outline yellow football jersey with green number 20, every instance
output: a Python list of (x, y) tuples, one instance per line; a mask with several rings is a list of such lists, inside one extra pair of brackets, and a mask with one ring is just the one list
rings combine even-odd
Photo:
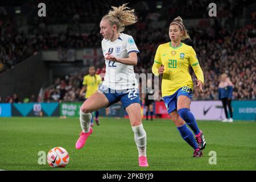
[(161, 44), (156, 50), (152, 73), (159, 76), (158, 68), (164, 66), (162, 80), (162, 97), (171, 96), (183, 86), (193, 90), (193, 81), (189, 74), (189, 65), (193, 68), (197, 80), (204, 83), (203, 71), (191, 46), (181, 43), (179, 47), (172, 47), (171, 42)]

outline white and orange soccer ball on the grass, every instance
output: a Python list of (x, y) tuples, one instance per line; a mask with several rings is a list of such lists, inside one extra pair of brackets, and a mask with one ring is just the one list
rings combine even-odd
[(65, 167), (69, 162), (67, 150), (62, 147), (54, 147), (47, 154), (47, 162), (51, 167)]

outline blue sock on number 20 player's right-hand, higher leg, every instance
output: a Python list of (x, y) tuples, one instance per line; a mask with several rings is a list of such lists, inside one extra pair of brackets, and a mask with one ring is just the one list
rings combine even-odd
[(196, 119), (191, 111), (187, 108), (178, 110), (180, 117), (188, 124), (188, 126), (193, 130), (195, 135), (200, 133), (199, 127), (197, 126)]

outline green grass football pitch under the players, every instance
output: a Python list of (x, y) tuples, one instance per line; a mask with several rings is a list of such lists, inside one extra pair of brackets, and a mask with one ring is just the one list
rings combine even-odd
[[(138, 151), (128, 119), (100, 118), (86, 145), (76, 150), (78, 118), (0, 118), (0, 169), (4, 170), (255, 170), (256, 123), (199, 121), (207, 146), (201, 158), (180, 137), (170, 120), (144, 121), (148, 168), (138, 167)], [(65, 168), (39, 165), (39, 151), (64, 147)], [(216, 151), (217, 164), (209, 164)]]

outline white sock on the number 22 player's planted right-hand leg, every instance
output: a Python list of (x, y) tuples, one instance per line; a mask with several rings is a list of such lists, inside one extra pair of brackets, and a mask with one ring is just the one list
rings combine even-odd
[(139, 156), (146, 155), (147, 135), (143, 125), (131, 126), (134, 131), (134, 140), (138, 148)]

